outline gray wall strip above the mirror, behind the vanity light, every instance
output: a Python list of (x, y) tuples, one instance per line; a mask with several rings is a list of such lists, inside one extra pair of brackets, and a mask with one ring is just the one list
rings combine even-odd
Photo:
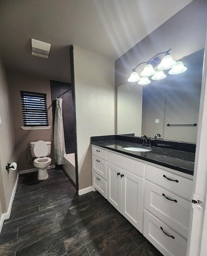
[(206, 28), (207, 1), (194, 0), (115, 61), (115, 85), (126, 83), (132, 68), (159, 52), (171, 48), (178, 60), (204, 48)]

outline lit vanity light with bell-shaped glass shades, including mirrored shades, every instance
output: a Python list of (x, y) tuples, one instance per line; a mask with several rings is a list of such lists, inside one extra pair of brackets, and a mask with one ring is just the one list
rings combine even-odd
[[(128, 79), (128, 82), (137, 82), (138, 84), (146, 85), (149, 84), (151, 81), (148, 79), (148, 77), (152, 76), (153, 80), (161, 80), (166, 78), (165, 73), (163, 70), (170, 69), (169, 74), (176, 75), (183, 73), (187, 70), (187, 67), (184, 67), (183, 63), (181, 61), (174, 61), (173, 57), (169, 54), (169, 49), (166, 52), (158, 53), (154, 57), (152, 57), (150, 60), (139, 63), (135, 68), (132, 69), (132, 73)], [(158, 55), (165, 54), (165, 56), (160, 60)], [(141, 65), (146, 64), (143, 71), (140, 73), (140, 76), (136, 72), (136, 68)], [(158, 68), (155, 70), (154, 68)], [(146, 78), (146, 79), (145, 79)]]

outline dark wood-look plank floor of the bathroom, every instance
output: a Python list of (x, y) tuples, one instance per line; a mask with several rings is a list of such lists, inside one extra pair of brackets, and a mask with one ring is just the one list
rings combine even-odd
[(51, 169), (44, 181), (20, 175), (0, 255), (162, 254), (98, 192), (78, 196), (64, 171)]

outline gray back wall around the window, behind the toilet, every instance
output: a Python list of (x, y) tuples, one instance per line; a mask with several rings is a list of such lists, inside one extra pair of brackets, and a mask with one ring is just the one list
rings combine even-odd
[[(27, 143), (38, 140), (51, 141), (51, 154), (52, 159), (51, 165), (54, 164), (53, 161), (53, 126), (52, 126), (52, 104), (51, 104), (51, 92), (50, 83), (48, 79), (41, 79), (36, 77), (30, 77), (27, 75), (9, 73), (7, 72), (7, 80), (9, 87), (11, 105), (11, 114), (13, 119), (13, 129), (14, 129), (14, 141), (15, 141), (15, 153), (17, 157), (18, 170), (27, 170), (28, 164), (26, 161), (27, 157)], [(38, 93), (47, 94), (47, 107), (48, 107), (48, 121), (51, 128), (49, 130), (22, 130), (20, 127), (23, 126), (22, 119), (22, 106), (20, 91), (31, 91)], [(31, 155), (28, 156), (29, 160)], [(34, 168), (31, 165), (30, 168)]]

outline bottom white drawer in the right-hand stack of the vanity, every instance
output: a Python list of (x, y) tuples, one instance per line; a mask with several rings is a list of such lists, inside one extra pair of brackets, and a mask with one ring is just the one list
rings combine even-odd
[(187, 240), (146, 210), (143, 235), (165, 256), (186, 255)]

